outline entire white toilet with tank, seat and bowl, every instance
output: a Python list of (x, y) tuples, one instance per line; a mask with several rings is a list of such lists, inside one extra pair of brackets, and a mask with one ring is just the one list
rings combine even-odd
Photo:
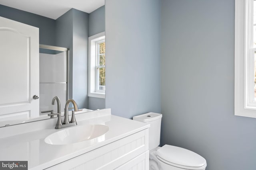
[(134, 116), (133, 120), (150, 124), (149, 128), (149, 169), (150, 170), (205, 170), (206, 160), (192, 152), (172, 145), (160, 144), (162, 114), (145, 113)]

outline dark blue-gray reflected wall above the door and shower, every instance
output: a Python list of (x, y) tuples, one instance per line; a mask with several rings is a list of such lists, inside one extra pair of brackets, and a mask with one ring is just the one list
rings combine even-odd
[(56, 45), (55, 20), (3, 5), (0, 5), (0, 16), (38, 27), (39, 43)]

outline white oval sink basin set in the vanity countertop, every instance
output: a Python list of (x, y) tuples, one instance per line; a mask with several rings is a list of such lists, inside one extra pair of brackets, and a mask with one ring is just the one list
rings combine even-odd
[(108, 126), (98, 124), (75, 126), (52, 133), (44, 141), (51, 145), (67, 145), (100, 137), (108, 130)]

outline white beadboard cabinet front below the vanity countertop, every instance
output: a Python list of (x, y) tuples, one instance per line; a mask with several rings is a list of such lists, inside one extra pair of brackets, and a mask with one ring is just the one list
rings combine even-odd
[(148, 170), (148, 129), (86, 152), (47, 170)]

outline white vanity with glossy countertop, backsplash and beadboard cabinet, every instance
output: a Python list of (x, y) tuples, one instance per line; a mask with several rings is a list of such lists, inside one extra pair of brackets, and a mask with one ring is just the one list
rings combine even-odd
[[(76, 121), (77, 126), (58, 130), (54, 129), (56, 118), (0, 128), (0, 160), (28, 161), (29, 170), (148, 169), (149, 125), (111, 115), (111, 109), (76, 114)], [(72, 129), (70, 134), (63, 133), (66, 139), (76, 137), (66, 141), (68, 144), (45, 141), (46, 137), (69, 128), (94, 129), (89, 125), (109, 129), (105, 129), (104, 135), (86, 141), (76, 141), (81, 133), (74, 136)]]

